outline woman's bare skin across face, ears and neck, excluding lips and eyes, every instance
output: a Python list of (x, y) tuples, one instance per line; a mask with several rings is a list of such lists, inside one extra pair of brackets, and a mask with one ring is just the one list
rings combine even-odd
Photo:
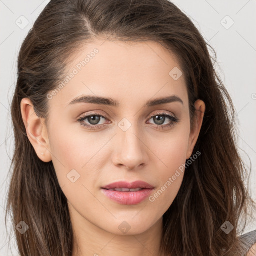
[[(21, 112), (27, 136), (38, 157), (53, 162), (56, 175), (67, 197), (74, 230), (72, 256), (85, 255), (161, 255), (159, 244), (162, 216), (169, 208), (183, 179), (179, 177), (151, 202), (122, 205), (110, 200), (100, 187), (121, 180), (143, 180), (158, 191), (192, 156), (202, 125), (205, 104), (195, 102), (197, 118), (190, 130), (188, 94), (183, 75), (174, 80), (169, 72), (179, 63), (160, 44), (121, 42), (97, 39), (84, 45), (67, 67), (67, 74), (93, 51), (98, 54), (68, 84), (49, 100), (49, 121), (34, 113), (28, 98), (21, 101)], [(111, 97), (119, 107), (92, 103), (68, 105), (80, 95)], [(145, 102), (158, 97), (177, 95), (183, 101), (152, 107)], [(150, 115), (167, 113), (180, 119), (165, 117), (158, 124)], [(77, 121), (84, 114), (102, 114), (101, 128), (89, 130)], [(118, 123), (126, 118), (127, 131)], [(93, 125), (88, 118), (83, 123)], [(41, 153), (44, 152), (44, 155)], [(67, 174), (75, 169), (80, 177), (72, 183)], [(123, 222), (130, 229), (122, 232)], [(76, 248), (79, 247), (79, 249)]]

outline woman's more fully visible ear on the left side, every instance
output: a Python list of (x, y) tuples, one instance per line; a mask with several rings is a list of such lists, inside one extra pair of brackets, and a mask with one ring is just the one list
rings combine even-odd
[(29, 98), (22, 98), (20, 109), (27, 137), (37, 156), (44, 162), (51, 161), (47, 127), (44, 123), (44, 119), (36, 115), (33, 104)]

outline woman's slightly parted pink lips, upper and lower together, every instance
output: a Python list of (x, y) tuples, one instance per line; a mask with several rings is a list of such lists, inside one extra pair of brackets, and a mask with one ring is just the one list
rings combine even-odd
[[(143, 188), (142, 190), (136, 192), (128, 191), (114, 191), (107, 190), (111, 188)], [(132, 183), (126, 181), (119, 181), (108, 184), (101, 188), (101, 191), (111, 200), (126, 205), (138, 204), (147, 198), (153, 190), (153, 186), (144, 181), (135, 181)]]

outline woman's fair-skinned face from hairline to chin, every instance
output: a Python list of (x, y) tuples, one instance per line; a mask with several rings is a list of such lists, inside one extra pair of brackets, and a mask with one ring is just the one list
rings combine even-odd
[[(153, 41), (98, 39), (73, 57), (67, 80), (47, 96), (47, 126), (42, 122), (37, 139), (29, 139), (42, 161), (52, 160), (77, 223), (138, 234), (169, 208), (183, 179), (180, 166), (192, 156), (202, 121), (198, 112), (196, 128), (190, 131), (181, 72), (173, 55)], [(111, 100), (78, 100), (82, 96)], [(27, 118), (25, 101), (21, 105)], [(198, 100), (196, 108), (204, 111), (203, 102)], [(143, 181), (152, 188), (142, 183), (134, 184), (139, 191), (102, 188), (119, 181)]]

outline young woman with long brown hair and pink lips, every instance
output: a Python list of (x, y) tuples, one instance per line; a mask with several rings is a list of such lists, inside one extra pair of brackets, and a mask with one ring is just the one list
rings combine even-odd
[(232, 100), (171, 2), (51, 0), (11, 114), (20, 255), (253, 253)]

